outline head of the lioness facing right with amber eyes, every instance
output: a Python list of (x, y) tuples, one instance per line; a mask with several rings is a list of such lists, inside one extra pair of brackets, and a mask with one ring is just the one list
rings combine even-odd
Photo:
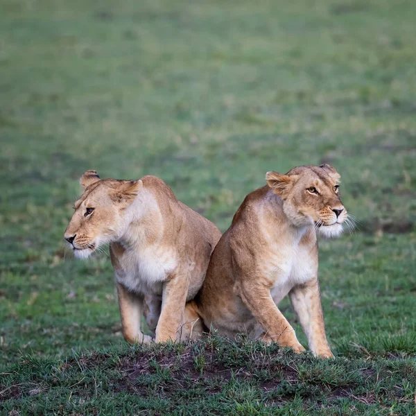
[(315, 225), (324, 236), (343, 231), (347, 210), (340, 200), (339, 173), (329, 164), (299, 166), (286, 175), (266, 173), (268, 186), (284, 200), (293, 225)]

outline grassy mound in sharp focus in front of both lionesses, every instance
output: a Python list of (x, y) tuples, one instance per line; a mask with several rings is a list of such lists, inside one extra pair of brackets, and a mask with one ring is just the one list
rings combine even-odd
[(2, 392), (6, 412), (35, 414), (410, 415), (415, 379), (409, 358), (317, 360), (211, 336), (58, 361), (24, 356)]

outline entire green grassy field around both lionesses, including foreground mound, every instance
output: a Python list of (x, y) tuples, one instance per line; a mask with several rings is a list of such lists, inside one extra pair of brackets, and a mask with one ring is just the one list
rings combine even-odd
[[(1, 415), (415, 414), (415, 1), (0, 9)], [(162, 177), (224, 231), (266, 171), (321, 162), (361, 221), (320, 242), (333, 361), (130, 347), (109, 258), (65, 255), (87, 169)]]

